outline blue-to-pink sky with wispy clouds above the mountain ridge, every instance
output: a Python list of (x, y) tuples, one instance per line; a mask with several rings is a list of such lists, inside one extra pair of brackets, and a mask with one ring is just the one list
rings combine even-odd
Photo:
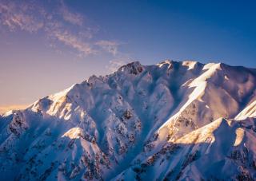
[(130, 61), (256, 68), (255, 1), (0, 0), (0, 112)]

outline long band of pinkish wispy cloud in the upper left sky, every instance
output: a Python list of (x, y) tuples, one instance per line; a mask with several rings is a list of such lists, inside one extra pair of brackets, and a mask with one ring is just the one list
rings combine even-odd
[(93, 38), (98, 32), (98, 26), (85, 21), (84, 14), (70, 10), (61, 0), (46, 4), (47, 8), (39, 1), (3, 0), (0, 2), (0, 24), (13, 32), (42, 31), (50, 39), (51, 47), (58, 48), (56, 44), (62, 43), (77, 51), (79, 57), (100, 52), (111, 53), (113, 56), (118, 53), (117, 42)]

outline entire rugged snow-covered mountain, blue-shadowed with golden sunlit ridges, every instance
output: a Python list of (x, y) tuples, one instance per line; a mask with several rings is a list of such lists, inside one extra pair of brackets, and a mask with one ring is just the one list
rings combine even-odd
[(2, 180), (256, 179), (256, 69), (133, 62), (0, 116)]

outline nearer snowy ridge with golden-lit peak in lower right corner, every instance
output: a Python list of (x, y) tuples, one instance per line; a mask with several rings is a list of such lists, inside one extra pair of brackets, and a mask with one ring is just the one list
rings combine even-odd
[(218, 119), (166, 143), (115, 179), (253, 180), (256, 176), (255, 119)]

